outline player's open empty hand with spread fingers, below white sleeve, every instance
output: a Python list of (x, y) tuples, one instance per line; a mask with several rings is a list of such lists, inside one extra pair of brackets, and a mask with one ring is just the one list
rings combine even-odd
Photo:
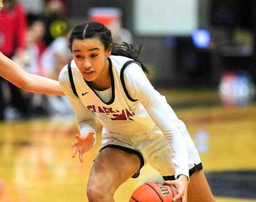
[(83, 162), (83, 154), (90, 150), (93, 146), (93, 141), (94, 141), (94, 132), (89, 132), (87, 135), (81, 136), (81, 135), (76, 135), (76, 140), (77, 142), (72, 142), (71, 146), (74, 148), (72, 157), (74, 158), (76, 156), (76, 153), (79, 152), (79, 159), (81, 162)]

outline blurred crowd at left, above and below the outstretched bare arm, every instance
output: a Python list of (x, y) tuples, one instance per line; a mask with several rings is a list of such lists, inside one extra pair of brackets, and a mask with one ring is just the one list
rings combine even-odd
[[(71, 60), (65, 0), (4, 0), (3, 4), (0, 51), (27, 72), (58, 80), (59, 71)], [(0, 121), (71, 113), (64, 96), (24, 92), (0, 77)]]

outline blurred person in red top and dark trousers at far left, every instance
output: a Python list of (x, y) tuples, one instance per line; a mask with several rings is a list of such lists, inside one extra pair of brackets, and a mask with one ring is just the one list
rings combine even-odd
[[(0, 17), (0, 51), (11, 58), (14, 54), (21, 54), (25, 49), (25, 33), (27, 29), (26, 13), (21, 3), (15, 0), (5, 0), (4, 8)], [(0, 78), (0, 120), (4, 119), (4, 109), (6, 103), (2, 84), (5, 81)], [(21, 90), (9, 83), (10, 104), (15, 107), (21, 116), (29, 117), (29, 103), (23, 97)]]

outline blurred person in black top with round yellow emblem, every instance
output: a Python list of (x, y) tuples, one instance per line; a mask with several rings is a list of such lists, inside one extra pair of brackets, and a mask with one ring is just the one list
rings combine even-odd
[(68, 26), (65, 19), (65, 6), (61, 0), (49, 0), (47, 2), (44, 11), (44, 23), (46, 25), (44, 36), (46, 46), (66, 33)]

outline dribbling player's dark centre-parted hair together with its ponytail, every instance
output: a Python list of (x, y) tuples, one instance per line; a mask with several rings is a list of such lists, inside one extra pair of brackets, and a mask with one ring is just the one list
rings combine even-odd
[[(99, 37), (99, 40), (104, 44), (105, 49), (112, 44), (111, 31), (107, 29), (103, 24), (97, 22), (86, 22), (81, 25), (76, 26), (69, 37), (69, 48), (72, 51), (72, 43), (73, 40), (84, 40), (87, 38)], [(122, 42), (122, 44), (113, 46), (111, 55), (116, 56), (124, 56), (127, 58), (131, 58), (133, 60), (138, 61), (140, 63), (141, 68), (145, 73), (149, 73), (149, 70), (143, 65), (141, 60), (139, 59), (141, 56), (141, 46), (138, 46), (134, 49), (132, 44), (127, 44), (126, 42)]]

